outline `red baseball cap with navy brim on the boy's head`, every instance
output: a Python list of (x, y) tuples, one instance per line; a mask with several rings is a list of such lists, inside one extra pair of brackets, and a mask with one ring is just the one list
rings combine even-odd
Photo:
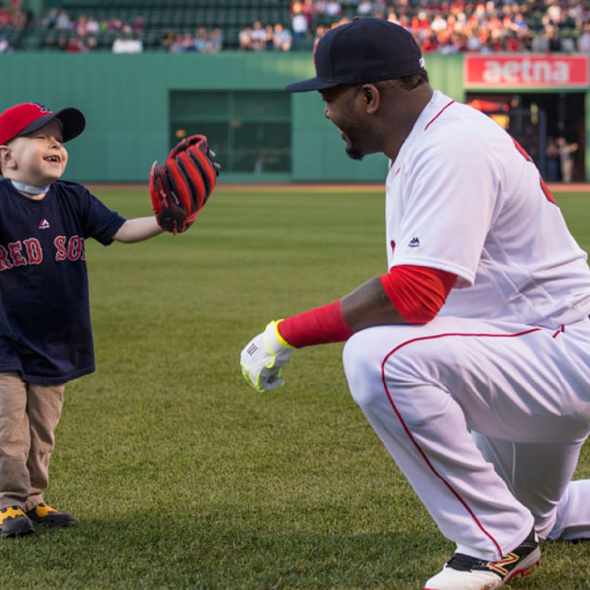
[(64, 142), (80, 135), (86, 125), (84, 115), (73, 107), (54, 112), (39, 103), (16, 104), (0, 114), (0, 145), (20, 135), (37, 131), (53, 119), (61, 123)]

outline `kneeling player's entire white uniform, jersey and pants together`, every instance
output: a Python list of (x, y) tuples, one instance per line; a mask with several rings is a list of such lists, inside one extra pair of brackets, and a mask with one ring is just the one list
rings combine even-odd
[(484, 560), (590, 538), (590, 271), (539, 172), (435, 92), (387, 179), (389, 267), (458, 281), (427, 324), (346, 342), (350, 392), (457, 550)]

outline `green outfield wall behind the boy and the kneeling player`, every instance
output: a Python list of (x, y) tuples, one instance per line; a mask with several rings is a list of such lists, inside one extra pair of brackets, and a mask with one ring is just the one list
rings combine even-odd
[[(464, 99), (461, 55), (428, 55), (427, 70), (433, 87)], [(307, 53), (15, 52), (0, 56), (0, 74), (0, 109), (35, 101), (84, 112), (86, 130), (68, 144), (70, 180), (145, 181), (182, 132), (207, 133), (227, 182), (385, 178), (385, 156), (346, 157), (318, 93), (283, 93), (313, 76)]]

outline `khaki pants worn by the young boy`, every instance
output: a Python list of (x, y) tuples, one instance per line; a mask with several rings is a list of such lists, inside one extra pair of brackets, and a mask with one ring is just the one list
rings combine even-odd
[(37, 385), (0, 372), (0, 509), (43, 500), (65, 385)]

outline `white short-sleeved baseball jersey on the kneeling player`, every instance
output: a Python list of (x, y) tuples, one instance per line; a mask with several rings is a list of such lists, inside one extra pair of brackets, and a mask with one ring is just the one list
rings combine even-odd
[(489, 117), (435, 92), (391, 164), (389, 268), (457, 274), (441, 316), (558, 327), (590, 313), (586, 253), (520, 150)]

